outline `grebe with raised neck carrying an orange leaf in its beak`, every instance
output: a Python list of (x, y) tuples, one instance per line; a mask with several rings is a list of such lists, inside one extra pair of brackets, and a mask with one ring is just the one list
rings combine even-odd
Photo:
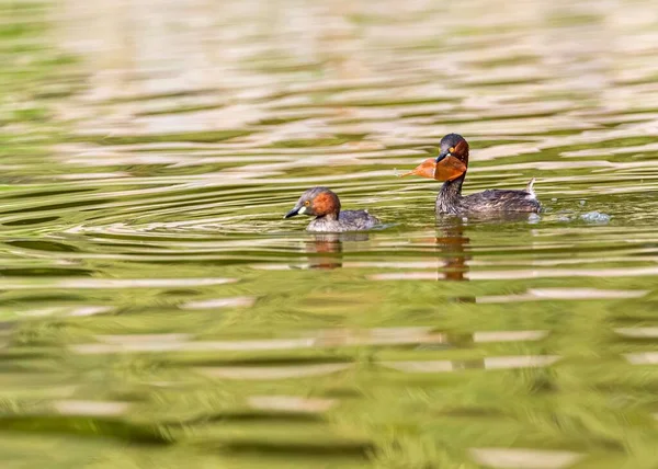
[(439, 157), (423, 161), (413, 171), (423, 178), (445, 181), (436, 196), (436, 215), (468, 215), (525, 211), (538, 213), (542, 205), (537, 201), (533, 184), (525, 191), (490, 188), (472, 195), (462, 195), (462, 184), (468, 170), (468, 142), (457, 134), (447, 134), (441, 139)]

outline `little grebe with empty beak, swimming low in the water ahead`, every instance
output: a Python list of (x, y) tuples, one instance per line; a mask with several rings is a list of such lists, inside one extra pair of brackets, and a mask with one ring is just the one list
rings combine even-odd
[(299, 214), (316, 217), (308, 224), (307, 231), (361, 231), (381, 224), (367, 210), (340, 211), (338, 195), (327, 187), (307, 190), (297, 201), (295, 208), (285, 214), (283, 218), (291, 218)]

